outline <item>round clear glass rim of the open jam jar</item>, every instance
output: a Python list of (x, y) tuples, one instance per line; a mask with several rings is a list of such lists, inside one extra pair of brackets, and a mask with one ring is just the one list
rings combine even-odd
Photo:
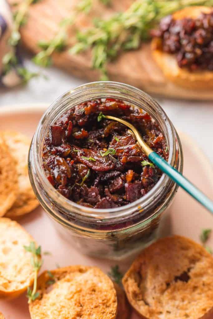
[[(53, 199), (54, 202), (57, 202), (58, 205), (66, 209), (67, 211), (72, 211), (75, 214), (81, 216), (81, 217), (87, 217), (87, 218), (94, 218), (94, 219), (114, 219), (116, 217), (126, 217), (130, 213), (135, 211), (135, 208), (139, 209), (139, 211), (143, 211), (144, 207), (147, 207), (148, 204), (151, 203), (153, 197), (155, 197), (157, 194), (159, 194), (160, 190), (166, 183), (170, 180), (170, 178), (166, 174), (162, 174), (156, 185), (148, 191), (148, 193), (141, 198), (137, 199), (136, 201), (126, 204), (124, 206), (116, 207), (116, 208), (110, 208), (110, 209), (96, 209), (96, 208), (90, 208), (86, 206), (82, 206), (80, 204), (77, 204), (70, 199), (67, 199), (64, 197), (62, 194), (57, 192), (57, 190), (51, 185), (51, 183), (48, 181), (44, 169), (43, 169), (43, 164), (42, 164), (42, 156), (41, 156), (41, 151), (43, 147), (43, 141), (44, 137), (46, 134), (43, 134), (44, 132), (42, 131), (42, 128), (46, 125), (50, 125), (50, 120), (56, 121), (58, 117), (60, 117), (61, 114), (63, 114), (66, 110), (58, 110), (57, 108), (60, 108), (60, 101), (66, 100), (67, 98), (69, 99), (68, 103), (71, 102), (74, 98), (76, 98), (76, 95), (79, 95), (80, 93), (83, 93), (84, 90), (88, 91), (93, 91), (97, 89), (97, 87), (102, 88), (105, 91), (109, 91), (105, 94), (105, 97), (113, 97), (114, 94), (110, 94), (110, 90), (115, 90), (119, 95), (119, 90), (124, 90), (126, 94), (129, 93), (134, 93), (138, 95), (138, 100), (141, 99), (140, 103), (142, 104), (142, 100), (146, 100), (147, 103), (152, 105), (155, 109), (156, 114), (160, 115), (160, 118), (162, 120), (162, 123), (165, 125), (165, 129), (167, 131), (167, 138), (169, 142), (169, 158), (168, 162), (172, 165), (172, 159), (175, 157), (174, 152), (175, 152), (175, 139), (174, 139), (174, 134), (175, 134), (175, 129), (170, 122), (168, 116), (164, 112), (164, 110), (161, 108), (161, 106), (152, 98), (150, 97), (147, 93), (143, 92), (142, 90), (135, 88), (131, 85), (127, 85), (124, 83), (119, 83), (119, 82), (112, 82), (112, 81), (96, 81), (96, 82), (90, 82), (87, 84), (83, 84), (80, 86), (76, 86), (75, 88), (65, 92), (62, 94), (57, 100), (55, 100), (49, 108), (45, 111), (43, 114), (42, 118), (39, 121), (39, 124), (36, 128), (34, 138), (32, 141), (31, 148), (33, 150), (33, 156), (34, 156), (34, 167), (33, 169), (35, 170), (36, 174), (38, 175), (38, 178), (40, 182), (42, 183), (42, 188), (45, 190), (45, 192), (48, 194), (49, 198)], [(86, 93), (86, 92), (85, 92)], [(87, 92), (88, 93), (88, 92)], [(88, 95), (88, 94), (85, 94)], [(72, 96), (70, 96), (72, 95)], [(82, 97), (83, 94), (81, 94)], [(121, 93), (120, 93), (121, 95)], [(131, 97), (131, 95), (130, 95)], [(95, 97), (97, 98), (97, 97)], [(90, 100), (92, 98), (88, 98)], [(123, 98), (122, 98), (123, 99)], [(125, 100), (125, 99), (124, 99)], [(85, 101), (85, 100), (84, 100)], [(78, 103), (73, 102), (73, 106)], [(137, 103), (132, 103), (136, 104)], [(140, 107), (140, 105), (138, 105)], [(141, 105), (141, 108), (144, 108), (144, 105)], [(68, 109), (68, 107), (67, 107)], [(150, 114), (152, 117), (154, 117), (154, 120), (159, 124), (159, 121), (156, 119), (155, 114)], [(154, 116), (153, 116), (154, 115)], [(54, 117), (55, 116), (55, 117)], [(47, 129), (46, 129), (47, 131)], [(41, 134), (42, 133), (42, 134)]]

